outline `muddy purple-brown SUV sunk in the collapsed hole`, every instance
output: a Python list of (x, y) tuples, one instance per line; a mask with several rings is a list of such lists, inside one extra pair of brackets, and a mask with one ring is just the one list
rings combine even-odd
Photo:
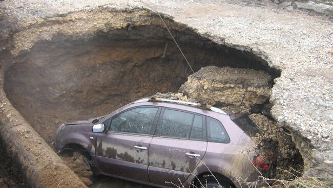
[(90, 154), (97, 174), (158, 187), (241, 187), (271, 164), (222, 110), (160, 98), (61, 125), (56, 149), (73, 145)]

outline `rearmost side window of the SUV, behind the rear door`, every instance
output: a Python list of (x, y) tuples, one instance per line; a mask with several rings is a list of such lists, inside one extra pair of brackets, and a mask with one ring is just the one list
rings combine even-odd
[(230, 138), (222, 123), (212, 117), (206, 117), (207, 140), (214, 143), (229, 143)]

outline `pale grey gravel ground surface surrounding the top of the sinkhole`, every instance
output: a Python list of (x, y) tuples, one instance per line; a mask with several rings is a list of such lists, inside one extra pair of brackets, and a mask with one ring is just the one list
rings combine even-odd
[[(251, 51), (270, 67), (281, 70), (270, 98), (273, 117), (292, 132), (306, 168), (331, 165), (324, 161), (333, 161), (333, 55), (328, 53), (333, 51), (332, 22), (324, 16), (287, 11), (262, 2), (144, 2), (6, 0), (0, 2), (2, 20), (7, 21), (1, 25), (0, 36), (13, 37), (10, 40), (14, 48), (1, 39), (0, 49), (9, 48), (17, 55), (31, 48), (33, 43), (20, 45), (20, 40), (29, 36), (11, 35), (11, 31), (36, 27), (44, 20), (70, 12), (153, 7), (214, 42)], [(38, 40), (43, 39), (50, 38)]]

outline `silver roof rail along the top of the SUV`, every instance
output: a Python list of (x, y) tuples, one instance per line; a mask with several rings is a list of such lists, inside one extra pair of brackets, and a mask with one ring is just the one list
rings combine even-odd
[(168, 103), (177, 103), (177, 104), (185, 104), (185, 105), (191, 105), (191, 106), (196, 106), (196, 107), (201, 107), (205, 108), (207, 110), (212, 110), (217, 113), (226, 113), (214, 106), (208, 105), (208, 104), (201, 104), (201, 103), (192, 103), (192, 102), (186, 102), (186, 101), (178, 101), (178, 100), (172, 100), (172, 99), (162, 99), (162, 98), (144, 98), (144, 99), (139, 99), (137, 101), (134, 101), (133, 103), (143, 103), (143, 102), (168, 102)]

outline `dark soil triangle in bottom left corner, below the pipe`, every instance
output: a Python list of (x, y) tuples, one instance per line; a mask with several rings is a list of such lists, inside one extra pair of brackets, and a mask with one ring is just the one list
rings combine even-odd
[(22, 171), (7, 155), (2, 142), (0, 139), (0, 188), (29, 188)]

